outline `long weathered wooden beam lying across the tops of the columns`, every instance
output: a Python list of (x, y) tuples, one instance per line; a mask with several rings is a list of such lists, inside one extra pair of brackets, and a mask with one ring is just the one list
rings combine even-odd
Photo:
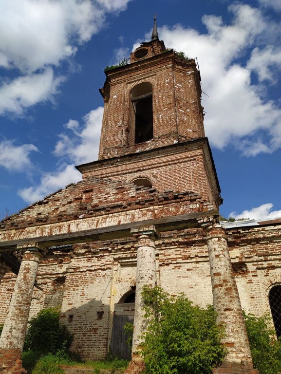
[(35, 238), (4, 241), (0, 242), (0, 252), (15, 251), (17, 245), (26, 243), (40, 243), (46, 247), (52, 247), (56, 245), (93, 242), (95, 240), (126, 238), (131, 236), (131, 228), (148, 225), (155, 225), (160, 232), (196, 227), (198, 226), (197, 219), (217, 216), (218, 214), (219, 211), (217, 209), (212, 209), (205, 212), (187, 213), (164, 218), (130, 222), (128, 224), (99, 227), (63, 234), (38, 236)]

